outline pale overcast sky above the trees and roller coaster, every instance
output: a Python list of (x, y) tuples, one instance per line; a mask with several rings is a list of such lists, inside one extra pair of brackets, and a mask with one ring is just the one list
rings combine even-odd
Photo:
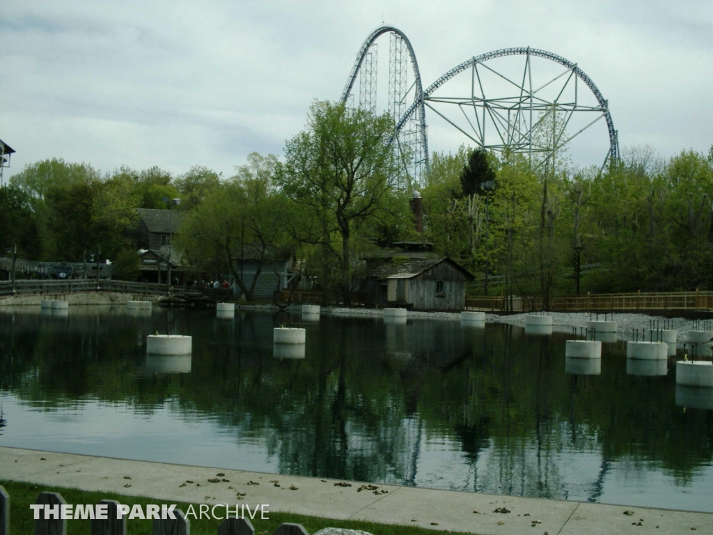
[[(282, 155), (382, 21), (409, 37), (424, 86), (471, 56), (532, 46), (595, 81), (622, 148), (713, 144), (710, 0), (1, 0), (0, 139), (17, 151), (6, 177), (53, 157), (227, 176), (253, 151)], [(467, 141), (427, 121), (431, 149)]]

